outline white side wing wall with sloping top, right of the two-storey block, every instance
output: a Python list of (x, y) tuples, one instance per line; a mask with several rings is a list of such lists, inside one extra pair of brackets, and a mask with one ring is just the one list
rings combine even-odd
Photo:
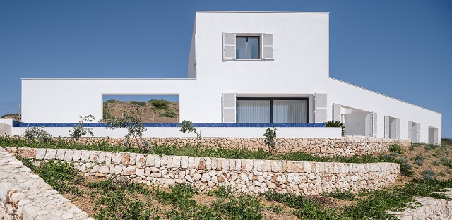
[(385, 116), (389, 116), (400, 119), (400, 139), (408, 139), (408, 121), (412, 121), (420, 123), (420, 142), (429, 142), (429, 127), (438, 129), (438, 140), (441, 142), (441, 114), (435, 111), (330, 78), (328, 120), (332, 118), (333, 103), (376, 112), (378, 138), (385, 138)]

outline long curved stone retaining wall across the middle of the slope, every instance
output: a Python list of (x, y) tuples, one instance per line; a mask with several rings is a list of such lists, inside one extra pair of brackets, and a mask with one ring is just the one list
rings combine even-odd
[(306, 161), (224, 159), (7, 147), (26, 158), (72, 162), (89, 176), (125, 176), (141, 183), (175, 185), (191, 183), (201, 191), (234, 185), (242, 193), (276, 190), (297, 195), (318, 195), (345, 189), (355, 192), (391, 185), (399, 164), (347, 164)]

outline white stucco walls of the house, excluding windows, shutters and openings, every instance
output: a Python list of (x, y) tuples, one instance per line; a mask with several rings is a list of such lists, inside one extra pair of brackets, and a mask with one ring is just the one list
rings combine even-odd
[[(274, 60), (224, 61), (223, 33), (273, 34)], [(329, 78), (328, 13), (196, 12), (188, 68), (186, 79), (23, 79), (22, 119), (76, 122), (86, 114), (100, 119), (105, 94), (178, 94), (181, 121), (220, 123), (222, 93), (236, 93), (309, 97), (314, 122), (313, 94), (324, 93), (328, 120), (338, 103), (376, 112), (378, 138), (384, 138), (384, 116), (391, 116), (400, 118), (401, 139), (408, 138), (408, 121), (413, 121), (421, 125), (420, 142), (428, 142), (429, 126), (438, 128), (441, 140), (441, 114)]]

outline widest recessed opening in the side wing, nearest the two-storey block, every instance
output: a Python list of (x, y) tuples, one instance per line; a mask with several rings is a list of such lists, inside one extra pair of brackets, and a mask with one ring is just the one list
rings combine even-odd
[(371, 113), (360, 109), (341, 106), (341, 121), (347, 136), (371, 137)]

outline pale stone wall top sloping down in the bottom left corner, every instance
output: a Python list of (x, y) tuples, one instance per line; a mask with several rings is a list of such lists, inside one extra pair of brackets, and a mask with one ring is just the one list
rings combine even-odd
[(0, 147), (0, 219), (91, 219)]

